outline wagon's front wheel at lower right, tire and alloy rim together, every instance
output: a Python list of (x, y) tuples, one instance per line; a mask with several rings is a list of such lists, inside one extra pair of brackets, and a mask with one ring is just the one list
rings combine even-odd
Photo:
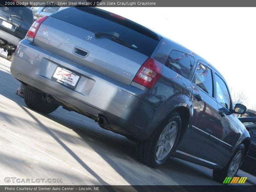
[(235, 154), (230, 158), (228, 164), (224, 168), (222, 168), (221, 170), (213, 170), (213, 179), (220, 183), (223, 183), (226, 177), (236, 176), (241, 164), (243, 163), (244, 150), (244, 144), (240, 144)]

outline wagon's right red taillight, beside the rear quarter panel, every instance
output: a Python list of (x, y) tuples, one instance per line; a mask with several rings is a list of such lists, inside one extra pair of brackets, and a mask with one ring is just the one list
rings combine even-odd
[(133, 81), (152, 89), (158, 79), (162, 76), (163, 66), (152, 58), (148, 58), (140, 67)]

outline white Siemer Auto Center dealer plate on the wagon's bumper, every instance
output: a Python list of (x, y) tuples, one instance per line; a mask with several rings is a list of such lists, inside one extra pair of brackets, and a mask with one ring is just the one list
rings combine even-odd
[(57, 67), (52, 75), (53, 80), (72, 89), (76, 88), (80, 77), (80, 75), (60, 67)]

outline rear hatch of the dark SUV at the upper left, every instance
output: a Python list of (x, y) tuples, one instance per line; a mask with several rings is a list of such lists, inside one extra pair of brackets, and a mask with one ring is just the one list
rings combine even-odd
[(33, 23), (33, 13), (28, 7), (5, 7), (0, 4), (1, 30), (23, 39)]

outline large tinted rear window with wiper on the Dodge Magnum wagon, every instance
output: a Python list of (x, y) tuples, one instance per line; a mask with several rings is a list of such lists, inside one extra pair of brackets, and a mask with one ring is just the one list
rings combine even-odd
[[(159, 42), (159, 36), (131, 20), (97, 8), (72, 7), (52, 15), (86, 30), (114, 35), (137, 52), (150, 56)], [(104, 36), (111, 39), (111, 36)]]

